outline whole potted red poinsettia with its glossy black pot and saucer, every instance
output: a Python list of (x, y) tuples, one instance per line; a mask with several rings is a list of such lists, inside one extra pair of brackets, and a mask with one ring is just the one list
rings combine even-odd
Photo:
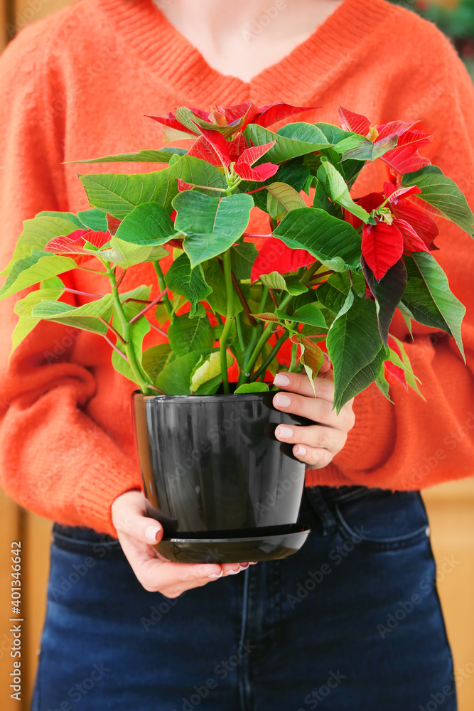
[[(165, 530), (158, 550), (171, 560), (264, 560), (303, 544), (304, 465), (274, 437), (277, 424), (301, 422), (271, 405), (282, 347), (291, 344), (286, 368), (311, 383), (327, 350), (337, 410), (373, 382), (389, 397), (387, 372), (418, 390), (404, 344), (389, 333), (396, 309), (408, 326), (446, 331), (463, 353), (465, 309), (431, 255), (431, 215), (469, 234), (474, 215), (419, 155), (429, 136), (416, 122), (371, 127), (342, 108), (342, 127), (268, 128), (303, 110), (246, 102), (153, 117), (190, 147), (83, 161), (168, 165), (80, 175), (91, 209), (27, 220), (4, 270), (0, 298), (36, 287), (16, 303), (14, 348), (42, 319), (92, 331), (138, 387), (144, 493)], [(352, 197), (376, 160), (387, 181)], [(247, 231), (255, 205), (268, 214), (265, 235)], [(150, 284), (121, 287), (144, 263), (154, 298)], [(65, 303), (71, 289), (60, 274), (74, 269), (106, 276), (109, 289), (72, 289), (82, 303)], [(166, 342), (144, 348), (152, 328)]]

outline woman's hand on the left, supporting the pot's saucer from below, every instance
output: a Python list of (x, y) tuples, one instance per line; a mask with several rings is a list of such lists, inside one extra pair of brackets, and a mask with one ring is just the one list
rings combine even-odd
[(141, 491), (126, 491), (112, 503), (112, 522), (132, 570), (149, 592), (178, 597), (185, 590), (203, 587), (223, 575), (244, 570), (249, 563), (173, 563), (153, 547), (163, 538), (163, 528), (149, 518)]

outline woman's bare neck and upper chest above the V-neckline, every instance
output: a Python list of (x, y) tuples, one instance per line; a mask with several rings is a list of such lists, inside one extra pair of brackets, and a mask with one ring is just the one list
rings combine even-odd
[(305, 41), (341, 0), (154, 0), (208, 64), (249, 81)]

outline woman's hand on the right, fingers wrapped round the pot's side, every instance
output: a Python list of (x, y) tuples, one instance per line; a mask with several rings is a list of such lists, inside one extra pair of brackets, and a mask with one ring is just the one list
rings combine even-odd
[(354, 427), (354, 398), (336, 415), (333, 410), (333, 371), (327, 358), (314, 381), (316, 398), (306, 373), (277, 373), (274, 384), (286, 391), (274, 396), (273, 404), (277, 410), (302, 415), (318, 423), (309, 427), (280, 424), (276, 427), (276, 438), (294, 444), (293, 454), (310, 469), (327, 466), (343, 449), (348, 432)]

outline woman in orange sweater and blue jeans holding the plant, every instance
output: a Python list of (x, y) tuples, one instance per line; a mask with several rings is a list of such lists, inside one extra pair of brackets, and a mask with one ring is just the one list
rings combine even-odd
[[(474, 202), (469, 77), (436, 28), (384, 0), (80, 0), (23, 31), (0, 75), (4, 263), (22, 220), (87, 209), (66, 161), (162, 145), (144, 114), (176, 105), (285, 100), (321, 106), (305, 120), (336, 123), (340, 103), (373, 125), (421, 119), (436, 135), (425, 154)], [(387, 178), (370, 170), (355, 195)], [(468, 305), (469, 355), (473, 250), (448, 223), (438, 246)], [(336, 417), (328, 370), (316, 400), (303, 377), (280, 375), (288, 395), (276, 407), (318, 423), (279, 435), (308, 465), (301, 520), (312, 532), (288, 560), (239, 567), (156, 556), (131, 384), (87, 333), (36, 331), (8, 366), (9, 339), (2, 346), (0, 447), (6, 491), (58, 522), (34, 709), (415, 711), (441, 694), (456, 708), (416, 491), (469, 476), (474, 461), (472, 437), (446, 441), (474, 394), (448, 338), (416, 326), (406, 345), (426, 403), (393, 383), (394, 406), (371, 387)], [(407, 338), (401, 319), (394, 333)]]

